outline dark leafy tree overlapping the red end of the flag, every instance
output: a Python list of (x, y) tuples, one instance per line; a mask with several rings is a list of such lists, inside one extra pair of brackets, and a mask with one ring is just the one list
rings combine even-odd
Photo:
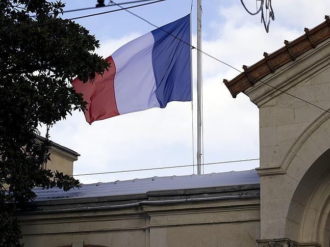
[[(80, 187), (78, 180), (44, 169), (48, 130), (85, 109), (70, 86), (73, 77), (93, 81), (109, 64), (93, 53), (99, 44), (88, 30), (59, 21), (62, 8), (46, 0), (0, 1), (0, 246), (19, 245), (13, 214), (34, 200), (34, 187)], [(47, 126), (43, 143), (36, 141), (40, 124)]]

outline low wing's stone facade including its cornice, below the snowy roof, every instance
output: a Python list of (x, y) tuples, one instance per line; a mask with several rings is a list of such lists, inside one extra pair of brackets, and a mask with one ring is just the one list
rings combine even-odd
[(259, 184), (46, 200), (20, 213), (26, 246), (255, 246)]

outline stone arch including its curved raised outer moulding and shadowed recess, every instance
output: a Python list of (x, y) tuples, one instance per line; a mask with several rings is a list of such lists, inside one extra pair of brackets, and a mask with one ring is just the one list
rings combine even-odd
[(296, 181), (290, 196), (285, 236), (307, 244), (304, 246), (330, 247), (329, 119), (330, 115), (324, 113), (310, 124), (281, 164), (281, 170)]

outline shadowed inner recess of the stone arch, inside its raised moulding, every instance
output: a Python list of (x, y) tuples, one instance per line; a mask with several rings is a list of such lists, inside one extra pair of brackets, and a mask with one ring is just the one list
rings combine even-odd
[(286, 221), (286, 236), (307, 246), (329, 247), (330, 149), (313, 162), (299, 181)]

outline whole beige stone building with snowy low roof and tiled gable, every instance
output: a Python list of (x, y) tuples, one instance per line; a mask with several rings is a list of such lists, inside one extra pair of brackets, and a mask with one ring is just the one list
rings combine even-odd
[(25, 246), (330, 246), (330, 18), (225, 85), (260, 109), (260, 167), (40, 190)]

